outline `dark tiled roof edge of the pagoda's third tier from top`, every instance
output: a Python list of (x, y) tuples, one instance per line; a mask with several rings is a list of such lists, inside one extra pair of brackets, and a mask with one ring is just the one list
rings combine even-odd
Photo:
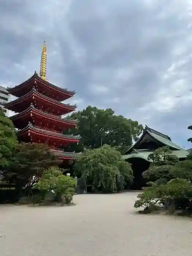
[(30, 110), (35, 110), (35, 111), (37, 111), (37, 112), (40, 113), (40, 114), (43, 114), (43, 115), (45, 115), (45, 116), (49, 116), (49, 117), (56, 118), (56, 119), (58, 119), (58, 120), (60, 120), (60, 121), (66, 121), (66, 122), (69, 122), (69, 123), (71, 122), (71, 123), (75, 123), (75, 124), (78, 123), (78, 119), (62, 118), (62, 117), (60, 117), (60, 116), (56, 116), (56, 115), (54, 115), (54, 114), (47, 113), (47, 112), (45, 112), (45, 111), (42, 111), (42, 110), (39, 110), (39, 109), (35, 108), (32, 103), (31, 103), (30, 107), (27, 108), (26, 110), (24, 110), (23, 112), (20, 112), (20, 113), (18, 113), (18, 114), (15, 114), (14, 116), (10, 116), (9, 118), (10, 118), (11, 120), (13, 120), (15, 117), (18, 117), (18, 116), (20, 116), (20, 115), (22, 115), (22, 114), (25, 114), (25, 113), (27, 113), (27, 112), (30, 111)]

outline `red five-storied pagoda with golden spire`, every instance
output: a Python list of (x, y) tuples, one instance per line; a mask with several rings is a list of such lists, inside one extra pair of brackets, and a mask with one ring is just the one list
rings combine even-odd
[(51, 150), (59, 154), (60, 159), (75, 159), (78, 153), (61, 150), (69, 143), (78, 143), (80, 136), (64, 135), (63, 131), (77, 126), (78, 120), (61, 118), (62, 115), (75, 110), (76, 105), (62, 103), (71, 98), (75, 91), (68, 91), (55, 86), (46, 79), (46, 45), (44, 42), (39, 75), (35, 71), (28, 80), (7, 91), (18, 97), (14, 101), (4, 103), (4, 108), (14, 111), (11, 116), (18, 129), (20, 142), (48, 143)]

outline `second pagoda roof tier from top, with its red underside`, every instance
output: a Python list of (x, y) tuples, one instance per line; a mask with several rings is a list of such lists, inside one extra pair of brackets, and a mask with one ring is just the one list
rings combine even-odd
[(35, 88), (14, 101), (10, 101), (8, 103), (4, 102), (3, 105), (6, 109), (20, 113), (29, 108), (31, 103), (33, 103), (35, 108), (45, 109), (46, 112), (55, 114), (57, 116), (70, 113), (76, 109), (76, 104), (70, 105), (69, 103), (61, 103), (39, 93)]

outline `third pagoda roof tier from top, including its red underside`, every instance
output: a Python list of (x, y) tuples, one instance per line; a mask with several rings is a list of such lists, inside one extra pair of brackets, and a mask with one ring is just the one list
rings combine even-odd
[(68, 129), (69, 127), (74, 127), (78, 125), (78, 120), (72, 120), (69, 118), (61, 118), (60, 116), (56, 116), (54, 114), (47, 113), (45, 111), (39, 110), (34, 107), (31, 103), (30, 107), (24, 110), (21, 113), (15, 114), (11, 116), (13, 124), (18, 129), (23, 129), (28, 125), (29, 122), (34, 125), (38, 125), (41, 123), (41, 126), (50, 126), (54, 127), (54, 130), (63, 131)]

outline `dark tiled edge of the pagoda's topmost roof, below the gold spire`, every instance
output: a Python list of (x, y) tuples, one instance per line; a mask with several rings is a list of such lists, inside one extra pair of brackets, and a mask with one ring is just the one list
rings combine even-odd
[(71, 95), (74, 95), (75, 94), (75, 91), (69, 91), (67, 90), (67, 88), (63, 89), (59, 86), (56, 86), (55, 84), (52, 84), (44, 79), (42, 79), (38, 74), (37, 72), (35, 71), (34, 72), (34, 75), (32, 75), (29, 79), (25, 80), (24, 82), (14, 86), (14, 87), (7, 87), (7, 91), (11, 94), (11, 91), (14, 91), (15, 89), (18, 89), (20, 86), (22, 86), (23, 84), (29, 82), (30, 80), (32, 80), (33, 78), (37, 78), (39, 79), (41, 82), (43, 83), (46, 83), (48, 84), (49, 86), (52, 86), (53, 88), (57, 89), (57, 90), (60, 90), (60, 91), (63, 91), (64, 93), (68, 93), (68, 94), (71, 94)]

